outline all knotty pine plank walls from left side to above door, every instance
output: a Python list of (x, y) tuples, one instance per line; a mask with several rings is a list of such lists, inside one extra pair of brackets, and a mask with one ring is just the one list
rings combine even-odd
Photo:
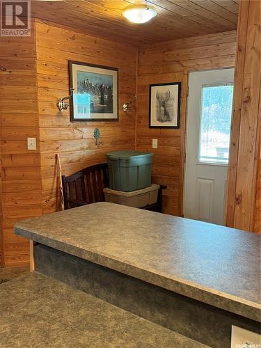
[[(56, 153), (69, 175), (104, 161), (108, 151), (134, 148), (135, 143), (137, 150), (155, 152), (153, 181), (168, 186), (164, 212), (182, 214), (188, 72), (235, 65), (235, 31), (145, 45), (138, 57), (138, 112), (125, 114), (119, 108), (119, 122), (72, 123), (69, 111), (56, 109), (58, 98), (68, 95), (68, 60), (118, 67), (120, 106), (136, 94), (136, 48), (40, 21), (35, 31), (31, 38), (0, 38), (0, 255), (6, 266), (29, 262), (29, 243), (13, 234), (13, 223), (58, 209)], [(149, 129), (149, 84), (170, 81), (182, 81), (181, 127)], [(99, 148), (94, 145), (95, 127), (102, 135)], [(38, 150), (26, 150), (27, 136), (36, 137)], [(154, 138), (159, 148), (152, 150)]]

